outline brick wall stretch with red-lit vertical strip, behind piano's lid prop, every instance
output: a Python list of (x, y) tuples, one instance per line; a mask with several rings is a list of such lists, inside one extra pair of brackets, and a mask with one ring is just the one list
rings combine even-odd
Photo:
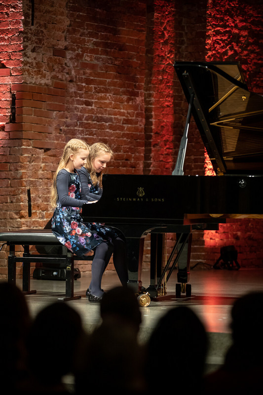
[[(154, 1), (148, 8), (145, 174), (171, 174), (184, 133), (188, 104), (173, 64), (204, 61), (206, 1)], [(193, 120), (188, 132), (184, 172), (204, 174), (204, 145)], [(194, 191), (193, 191), (194, 194)], [(166, 235), (168, 255), (175, 237)], [(193, 236), (193, 264), (199, 259), (203, 233)], [(202, 249), (202, 247), (201, 247)], [(197, 255), (195, 254), (197, 252)], [(203, 252), (203, 249), (202, 249)], [(150, 236), (145, 239), (145, 266), (150, 261)]]

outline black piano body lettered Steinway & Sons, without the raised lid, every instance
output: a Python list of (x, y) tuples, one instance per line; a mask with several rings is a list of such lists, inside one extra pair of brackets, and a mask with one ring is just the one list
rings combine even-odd
[[(106, 174), (103, 188), (97, 203), (82, 207), (82, 217), (122, 231), (127, 241), (129, 282), (134, 283), (136, 292), (142, 290), (141, 264), (147, 234), (176, 233), (185, 235), (188, 241), (195, 230), (217, 230), (219, 223), (227, 222), (227, 214), (263, 214), (261, 176)], [(154, 254), (151, 258), (156, 259)], [(188, 276), (189, 268), (183, 263), (178, 268), (178, 283), (188, 283)], [(150, 284), (155, 285), (157, 291), (157, 284)]]

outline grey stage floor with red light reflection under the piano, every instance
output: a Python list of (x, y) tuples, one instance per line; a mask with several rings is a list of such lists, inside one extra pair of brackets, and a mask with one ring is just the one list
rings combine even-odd
[[(190, 272), (191, 296), (182, 294), (175, 297), (177, 271), (173, 273), (167, 284), (167, 300), (151, 301), (148, 307), (142, 307), (142, 324), (139, 340), (145, 342), (154, 328), (157, 320), (169, 309), (185, 305), (190, 307), (204, 323), (210, 340), (210, 350), (207, 364), (210, 370), (221, 364), (225, 352), (231, 342), (230, 310), (234, 300), (250, 291), (263, 291), (263, 269), (215, 270), (195, 269)], [(150, 284), (149, 271), (143, 272), (143, 285)], [(80, 314), (87, 331), (91, 331), (100, 322), (99, 305), (89, 303), (85, 291), (90, 281), (90, 275), (81, 276), (75, 280), (75, 295), (81, 299), (68, 301)], [(17, 285), (21, 286), (21, 280)], [(115, 272), (106, 272), (103, 276), (105, 291), (120, 285)], [(65, 294), (65, 281), (31, 280), (31, 289), (36, 294), (26, 295), (30, 311), (35, 316), (45, 305), (57, 301)]]

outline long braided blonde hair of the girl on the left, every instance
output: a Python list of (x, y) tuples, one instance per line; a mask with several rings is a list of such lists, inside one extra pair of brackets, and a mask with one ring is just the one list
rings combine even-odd
[(58, 200), (58, 192), (57, 192), (57, 175), (58, 172), (63, 169), (64, 167), (67, 166), (69, 160), (70, 160), (70, 156), (71, 154), (77, 154), (79, 150), (89, 150), (89, 146), (88, 144), (86, 144), (84, 141), (82, 140), (78, 140), (78, 139), (71, 139), (64, 148), (64, 152), (63, 155), (60, 159), (60, 162), (58, 164), (58, 168), (54, 174), (53, 177), (53, 185), (51, 187), (51, 206), (52, 207), (56, 207), (57, 204), (57, 200)]

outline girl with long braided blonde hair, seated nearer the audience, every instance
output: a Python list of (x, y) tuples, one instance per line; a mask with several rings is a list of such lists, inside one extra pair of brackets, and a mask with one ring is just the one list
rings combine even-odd
[(51, 227), (57, 239), (75, 255), (82, 257), (94, 250), (92, 286), (87, 296), (90, 302), (99, 302), (104, 293), (102, 275), (113, 253), (112, 238), (117, 234), (112, 228), (84, 223), (81, 218), (81, 207), (92, 202), (81, 193), (78, 175), (88, 154), (89, 146), (81, 140), (72, 139), (66, 144), (51, 191), (51, 205), (55, 207)]

